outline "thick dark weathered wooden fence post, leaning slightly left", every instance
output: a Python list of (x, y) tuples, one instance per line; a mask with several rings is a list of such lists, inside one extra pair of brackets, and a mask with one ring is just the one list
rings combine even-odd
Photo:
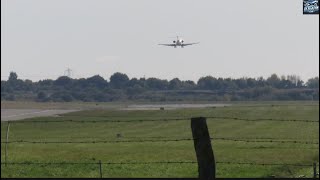
[(191, 118), (191, 129), (198, 161), (199, 179), (215, 179), (216, 163), (213, 155), (206, 118)]

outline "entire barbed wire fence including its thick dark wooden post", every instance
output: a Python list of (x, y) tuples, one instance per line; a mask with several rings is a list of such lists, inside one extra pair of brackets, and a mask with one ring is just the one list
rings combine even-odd
[[(110, 118), (110, 117), (109, 117)], [(144, 117), (146, 118), (146, 117)], [(110, 141), (110, 140), (94, 140), (94, 141), (28, 141), (28, 140), (15, 140), (15, 141), (9, 141), (9, 131), (10, 131), (10, 124), (17, 124), (17, 123), (61, 123), (61, 122), (72, 122), (72, 123), (134, 123), (134, 122), (171, 122), (171, 121), (193, 121), (194, 123), (198, 122), (195, 120), (204, 120), (204, 127), (201, 127), (198, 129), (192, 127), (193, 135), (194, 131), (198, 131), (198, 133), (202, 133), (203, 131), (207, 133), (208, 138), (206, 137), (193, 137), (193, 138), (176, 138), (176, 139), (170, 139), (168, 137), (145, 137), (144, 139), (139, 137), (125, 137), (127, 139), (133, 139), (133, 140), (120, 140), (120, 141)], [(52, 165), (97, 165), (99, 167), (99, 174), (100, 177), (103, 177), (102, 174), (102, 165), (138, 165), (138, 164), (198, 164), (198, 171), (199, 171), (199, 177), (203, 178), (203, 172), (201, 176), (201, 172), (203, 171), (203, 164), (206, 164), (207, 166), (214, 166), (214, 178), (215, 178), (215, 166), (216, 164), (227, 164), (227, 165), (253, 165), (253, 166), (295, 166), (295, 167), (313, 167), (313, 177), (317, 178), (319, 176), (319, 173), (317, 172), (317, 166), (319, 166), (319, 162), (314, 162), (311, 164), (292, 164), (292, 163), (256, 163), (256, 162), (229, 162), (229, 161), (215, 161), (214, 157), (213, 162), (199, 162), (203, 161), (203, 158), (199, 160), (198, 155), (200, 156), (206, 156), (205, 153), (207, 153), (208, 148), (209, 151), (212, 151), (211, 148), (211, 141), (218, 140), (218, 141), (234, 141), (234, 142), (245, 142), (245, 143), (281, 143), (281, 144), (309, 144), (309, 145), (318, 145), (317, 148), (319, 149), (319, 142), (314, 141), (297, 141), (297, 140), (279, 140), (279, 139), (270, 139), (270, 138), (254, 138), (254, 139), (239, 139), (239, 138), (230, 138), (230, 137), (217, 137), (217, 138), (211, 138), (208, 133), (207, 125), (206, 125), (206, 119), (220, 119), (220, 120), (235, 120), (235, 121), (250, 121), (250, 122), (257, 122), (257, 121), (282, 121), (282, 122), (300, 122), (300, 123), (319, 123), (319, 121), (314, 120), (301, 120), (301, 119), (272, 119), (272, 118), (259, 118), (259, 119), (248, 119), (248, 118), (236, 118), (236, 117), (218, 117), (218, 116), (208, 116), (208, 117), (199, 117), (199, 118), (168, 118), (168, 119), (141, 119), (141, 120), (110, 120), (110, 119), (104, 119), (104, 120), (88, 120), (88, 121), (82, 121), (82, 120), (60, 120), (60, 121), (35, 121), (35, 120), (28, 120), (28, 121), (8, 121), (7, 122), (7, 132), (6, 132), (6, 141), (2, 142), (1, 144), (5, 144), (5, 161), (1, 162), (1, 165), (4, 166), (52, 166)], [(192, 125), (193, 126), (193, 125)], [(202, 126), (202, 125), (200, 125)], [(203, 129), (204, 128), (204, 129)], [(202, 135), (200, 135), (202, 136)], [(92, 137), (82, 137), (82, 138), (92, 138)], [(142, 162), (142, 161), (128, 161), (128, 162), (102, 162), (99, 160), (98, 162), (9, 162), (8, 161), (8, 145), (9, 144), (20, 144), (20, 143), (27, 143), (27, 144), (99, 144), (99, 143), (144, 143), (144, 142), (179, 142), (179, 141), (193, 141), (195, 145), (195, 150), (197, 153), (197, 159), (198, 161), (150, 161), (150, 162)], [(198, 141), (198, 142), (197, 142)], [(199, 141), (200, 145), (199, 145)], [(202, 143), (202, 144), (201, 144)], [(204, 147), (206, 146), (206, 147)], [(210, 153), (209, 153), (210, 156)], [(212, 153), (213, 156), (213, 153)], [(206, 157), (207, 158), (207, 157)], [(212, 159), (211, 158), (211, 159)], [(208, 158), (210, 159), (210, 157)], [(212, 164), (214, 163), (214, 164)], [(212, 175), (212, 172), (205, 172), (205, 176)]]

